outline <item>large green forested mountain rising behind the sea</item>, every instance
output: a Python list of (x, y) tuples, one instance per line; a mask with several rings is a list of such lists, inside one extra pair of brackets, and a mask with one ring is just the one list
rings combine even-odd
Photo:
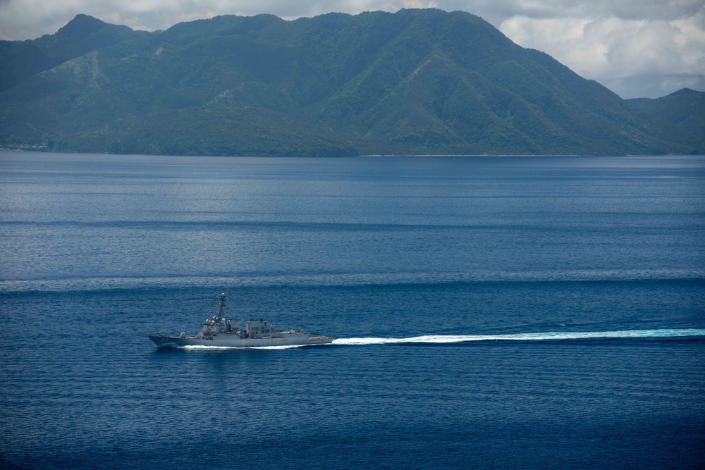
[(4, 147), (656, 154), (698, 151), (691, 134), (458, 11), (219, 16), (152, 33), (79, 15), (0, 42)]

